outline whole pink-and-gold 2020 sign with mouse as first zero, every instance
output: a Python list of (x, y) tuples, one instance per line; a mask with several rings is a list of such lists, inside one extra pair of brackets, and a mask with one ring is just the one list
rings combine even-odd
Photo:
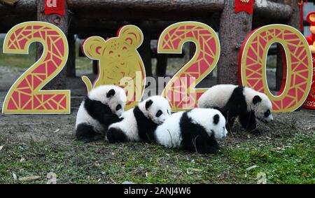
[[(128, 108), (135, 106), (144, 94), (146, 84), (144, 64), (137, 52), (142, 41), (141, 30), (133, 25), (123, 27), (117, 37), (107, 41), (97, 36), (87, 38), (83, 43), (85, 55), (99, 60), (99, 73), (94, 84), (83, 77), (87, 90), (103, 84), (120, 85), (120, 78), (135, 80), (136, 73), (139, 72), (141, 82), (132, 84), (132, 92), (127, 85), (120, 85), (130, 96)], [(41, 90), (66, 64), (66, 36), (53, 24), (23, 22), (8, 31), (3, 52), (27, 54), (29, 45), (33, 42), (43, 44), (43, 55), (10, 87), (3, 102), (2, 113), (70, 113), (70, 90)], [(186, 42), (195, 43), (195, 56), (173, 76), (162, 92), (173, 111), (196, 106), (197, 99), (207, 89), (195, 89), (195, 85), (211, 73), (220, 57), (220, 42), (216, 32), (201, 22), (179, 22), (167, 27), (158, 41), (158, 52), (181, 53), (183, 43)], [(272, 43), (281, 43), (286, 57), (282, 89), (279, 92), (281, 94), (277, 96), (269, 92), (265, 72), (267, 52)], [(116, 63), (113, 75), (109, 71), (111, 62)], [(132, 63), (128, 68), (125, 65), (127, 62)], [(119, 75), (116, 73), (118, 71)], [(283, 24), (255, 29), (247, 36), (241, 48), (239, 76), (241, 84), (267, 94), (272, 100), (274, 112), (294, 111), (303, 104), (311, 87), (312, 62), (307, 41), (297, 29)]]

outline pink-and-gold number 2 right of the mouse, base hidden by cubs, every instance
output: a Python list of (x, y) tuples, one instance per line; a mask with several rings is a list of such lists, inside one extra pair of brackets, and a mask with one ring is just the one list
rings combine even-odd
[(196, 89), (195, 85), (211, 73), (220, 57), (216, 31), (201, 22), (179, 22), (167, 27), (158, 41), (158, 53), (181, 53), (183, 43), (188, 41), (196, 45), (195, 56), (175, 73), (162, 92), (172, 111), (196, 106), (197, 99), (207, 89)]

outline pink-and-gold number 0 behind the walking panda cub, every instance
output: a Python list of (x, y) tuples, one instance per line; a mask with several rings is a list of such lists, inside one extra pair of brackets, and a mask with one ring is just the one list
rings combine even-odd
[[(267, 52), (272, 43), (280, 43), (284, 50), (284, 78), (276, 96), (269, 91), (266, 79)], [(255, 29), (245, 39), (239, 57), (239, 81), (265, 92), (274, 112), (290, 112), (307, 98), (312, 68), (311, 52), (300, 31), (285, 24), (272, 24)]]

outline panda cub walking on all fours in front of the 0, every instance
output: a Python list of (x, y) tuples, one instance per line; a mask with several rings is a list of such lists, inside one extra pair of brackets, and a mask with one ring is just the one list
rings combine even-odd
[(215, 85), (204, 92), (198, 100), (201, 108), (217, 108), (228, 120), (227, 129), (232, 129), (235, 118), (251, 134), (258, 135), (256, 120), (271, 122), (272, 103), (266, 94), (238, 85)]

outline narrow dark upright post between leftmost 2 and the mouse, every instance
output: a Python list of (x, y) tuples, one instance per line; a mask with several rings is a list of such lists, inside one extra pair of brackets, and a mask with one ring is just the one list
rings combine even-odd
[(67, 36), (69, 44), (69, 56), (66, 62), (66, 76), (76, 77), (76, 38), (73, 34)]

